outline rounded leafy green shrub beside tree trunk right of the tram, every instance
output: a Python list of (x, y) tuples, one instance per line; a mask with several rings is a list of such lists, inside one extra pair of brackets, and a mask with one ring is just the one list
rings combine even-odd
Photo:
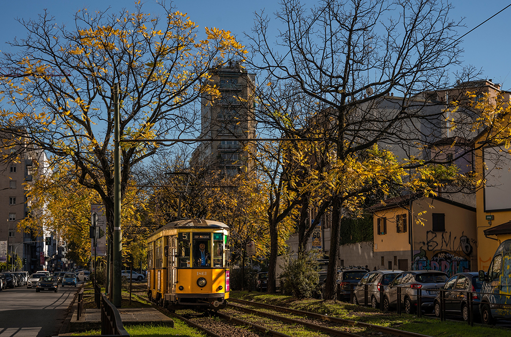
[(313, 297), (319, 292), (316, 254), (309, 253), (297, 259), (288, 258), (280, 279), (285, 294), (298, 298)]

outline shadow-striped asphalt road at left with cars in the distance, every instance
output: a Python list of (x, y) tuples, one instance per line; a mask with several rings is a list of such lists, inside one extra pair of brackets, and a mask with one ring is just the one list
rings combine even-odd
[(57, 293), (36, 293), (34, 288), (23, 286), (3, 290), (0, 292), (0, 337), (57, 335), (79, 289), (79, 286), (59, 286)]

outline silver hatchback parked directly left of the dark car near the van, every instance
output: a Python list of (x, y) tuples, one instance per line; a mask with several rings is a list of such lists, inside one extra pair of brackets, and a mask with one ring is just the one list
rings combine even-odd
[[(383, 309), (397, 308), (404, 304), (407, 314), (413, 314), (417, 307), (417, 295), (421, 290), (421, 310), (432, 311), (438, 290), (444, 286), (448, 276), (436, 270), (414, 270), (402, 272), (389, 283), (384, 293)], [(401, 301), (398, 303), (398, 289)]]

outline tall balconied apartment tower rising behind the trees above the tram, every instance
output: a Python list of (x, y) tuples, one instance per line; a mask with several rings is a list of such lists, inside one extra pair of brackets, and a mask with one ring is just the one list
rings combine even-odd
[[(220, 95), (206, 95), (201, 101), (201, 135), (204, 139), (254, 138), (255, 75), (238, 62), (211, 70), (212, 84)], [(224, 174), (236, 175), (249, 166), (239, 140), (202, 142), (192, 154), (192, 165), (211, 165)]]

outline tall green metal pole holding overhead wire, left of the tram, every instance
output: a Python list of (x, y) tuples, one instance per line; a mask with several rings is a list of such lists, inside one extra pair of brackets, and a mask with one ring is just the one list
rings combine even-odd
[(114, 112), (114, 150), (113, 150), (113, 275), (112, 275), (112, 304), (121, 307), (121, 260), (122, 260), (122, 234), (121, 234), (121, 152), (120, 112), (119, 112), (119, 83), (113, 84), (113, 112)]

